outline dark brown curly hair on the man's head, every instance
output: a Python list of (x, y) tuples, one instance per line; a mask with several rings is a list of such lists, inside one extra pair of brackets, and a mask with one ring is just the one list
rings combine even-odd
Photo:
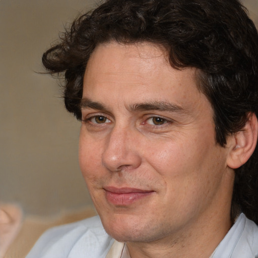
[[(50, 74), (64, 73), (64, 103), (78, 119), (89, 57), (110, 41), (151, 42), (166, 49), (171, 67), (197, 68), (221, 146), (258, 114), (258, 34), (238, 0), (108, 0), (76, 19), (42, 60)], [(242, 211), (258, 224), (257, 158), (256, 147), (235, 170), (232, 220)]]

